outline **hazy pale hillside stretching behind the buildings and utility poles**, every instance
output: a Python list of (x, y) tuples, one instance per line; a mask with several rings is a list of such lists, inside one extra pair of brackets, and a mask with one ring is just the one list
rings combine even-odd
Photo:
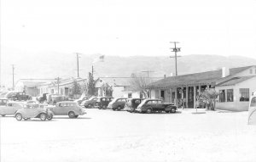
[[(99, 54), (80, 55), (79, 73), (80, 77), (87, 77), (91, 71), (93, 60)], [(2, 49), (2, 82), (11, 85), (12, 69), (15, 64), (15, 81), (25, 78), (62, 78), (77, 75), (77, 63), (75, 53), (28, 53)], [(218, 55), (185, 55), (177, 59), (178, 75), (217, 70), (221, 67), (240, 67), (256, 64), (256, 59), (239, 56)], [(94, 64), (96, 76), (130, 76), (142, 70), (151, 70), (149, 75), (154, 77), (169, 76), (171, 72), (175, 75), (174, 59), (168, 56), (105, 56), (104, 62)], [(146, 75), (146, 73), (143, 73)]]

